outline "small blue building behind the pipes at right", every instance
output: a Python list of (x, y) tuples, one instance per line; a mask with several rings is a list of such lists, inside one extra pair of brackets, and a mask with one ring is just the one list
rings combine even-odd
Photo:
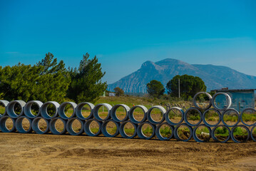
[[(237, 111), (242, 112), (245, 108), (255, 108), (255, 90), (256, 89), (228, 89), (222, 88), (220, 90), (212, 90), (215, 93), (227, 93), (232, 100), (230, 108), (235, 108)], [(215, 98), (215, 103), (224, 103), (223, 96)]]

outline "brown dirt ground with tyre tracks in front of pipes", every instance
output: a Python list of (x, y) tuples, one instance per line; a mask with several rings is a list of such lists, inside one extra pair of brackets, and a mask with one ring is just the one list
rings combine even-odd
[(256, 170), (256, 142), (0, 133), (0, 170)]

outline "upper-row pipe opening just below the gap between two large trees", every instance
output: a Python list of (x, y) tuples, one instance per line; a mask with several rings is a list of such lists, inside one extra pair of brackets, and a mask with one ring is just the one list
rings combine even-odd
[(58, 115), (64, 120), (73, 118), (76, 115), (76, 103), (64, 102), (58, 108)]

